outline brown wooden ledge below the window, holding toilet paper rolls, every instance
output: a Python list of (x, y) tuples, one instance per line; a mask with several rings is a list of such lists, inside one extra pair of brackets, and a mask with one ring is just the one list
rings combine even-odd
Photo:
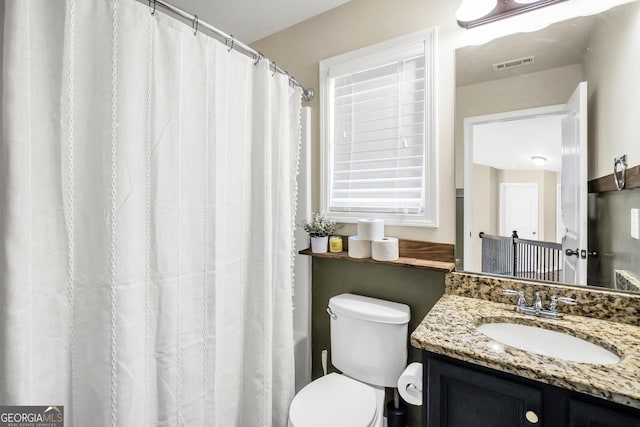
[[(343, 236), (343, 247), (347, 250), (342, 252), (313, 253), (310, 248), (303, 249), (299, 253), (318, 258), (341, 259), (359, 263), (394, 265), (410, 268), (420, 268), (424, 270), (440, 271), (450, 273), (455, 268), (453, 257), (453, 245), (417, 242), (413, 240), (400, 240), (400, 258), (395, 261), (376, 261), (373, 258), (351, 258), (348, 253), (348, 237)], [(346, 245), (345, 245), (346, 243)], [(433, 259), (427, 259), (433, 258)]]

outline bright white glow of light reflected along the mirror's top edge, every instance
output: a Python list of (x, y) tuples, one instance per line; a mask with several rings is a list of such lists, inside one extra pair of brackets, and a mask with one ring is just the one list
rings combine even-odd
[(490, 25), (465, 30), (460, 33), (456, 48), (478, 46), (511, 34), (538, 31), (556, 22), (604, 12), (612, 7), (631, 3), (632, 1), (636, 0), (563, 1), (550, 7), (543, 7), (508, 19), (494, 21)]

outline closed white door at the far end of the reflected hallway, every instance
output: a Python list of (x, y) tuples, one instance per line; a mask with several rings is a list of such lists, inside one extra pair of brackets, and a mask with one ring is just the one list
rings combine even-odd
[(500, 184), (500, 235), (538, 240), (538, 184)]

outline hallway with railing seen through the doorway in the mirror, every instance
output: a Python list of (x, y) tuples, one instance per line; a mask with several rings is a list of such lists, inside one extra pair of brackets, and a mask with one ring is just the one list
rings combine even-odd
[[(537, 108), (465, 120), (469, 155), (464, 167), (472, 190), (466, 201), (473, 212), (468, 228), (478, 230), (478, 236), (464, 238), (465, 270), (504, 275), (515, 266), (521, 277), (560, 279), (561, 112)], [(513, 249), (524, 249), (525, 241), (536, 251), (540, 242), (549, 243), (549, 251), (543, 251), (548, 266), (532, 268), (513, 259)]]

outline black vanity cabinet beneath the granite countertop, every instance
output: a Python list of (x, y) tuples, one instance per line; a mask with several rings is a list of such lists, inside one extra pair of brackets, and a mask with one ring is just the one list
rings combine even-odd
[(640, 411), (423, 352), (424, 427), (640, 427)]

